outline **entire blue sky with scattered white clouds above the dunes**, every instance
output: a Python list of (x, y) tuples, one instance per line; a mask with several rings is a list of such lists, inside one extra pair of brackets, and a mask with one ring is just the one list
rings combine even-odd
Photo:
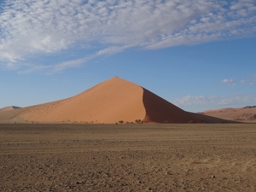
[(253, 0), (0, 3), (0, 108), (113, 76), (191, 112), (256, 104)]

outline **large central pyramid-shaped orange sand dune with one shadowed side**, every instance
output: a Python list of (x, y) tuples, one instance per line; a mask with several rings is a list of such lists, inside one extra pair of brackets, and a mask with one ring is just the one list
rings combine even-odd
[(223, 121), (185, 112), (149, 90), (118, 77), (97, 84), (77, 96), (5, 113), (2, 119), (7, 117), (40, 123), (115, 123), (120, 120), (134, 122), (135, 119), (145, 123)]

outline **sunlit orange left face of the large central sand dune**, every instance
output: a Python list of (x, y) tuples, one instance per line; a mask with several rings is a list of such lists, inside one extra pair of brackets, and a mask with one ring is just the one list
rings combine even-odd
[(143, 119), (143, 89), (114, 77), (77, 96), (31, 108), (20, 118), (38, 122), (114, 123)]

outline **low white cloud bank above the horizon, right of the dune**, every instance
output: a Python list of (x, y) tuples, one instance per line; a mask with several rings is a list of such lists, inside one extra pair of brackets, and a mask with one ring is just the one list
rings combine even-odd
[(235, 95), (235, 96), (183, 96), (175, 99), (172, 103), (181, 108), (221, 108), (236, 106), (243, 103), (255, 103), (256, 95)]

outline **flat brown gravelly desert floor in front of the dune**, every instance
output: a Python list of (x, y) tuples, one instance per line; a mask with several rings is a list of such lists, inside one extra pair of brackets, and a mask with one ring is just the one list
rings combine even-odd
[(0, 191), (256, 191), (256, 125), (0, 125)]

